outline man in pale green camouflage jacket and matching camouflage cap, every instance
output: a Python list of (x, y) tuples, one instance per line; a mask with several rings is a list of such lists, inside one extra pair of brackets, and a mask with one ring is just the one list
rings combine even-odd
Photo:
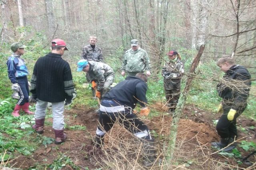
[(131, 40), (131, 48), (124, 54), (121, 67), (122, 76), (127, 73), (128, 76), (135, 76), (138, 72), (144, 72), (150, 76), (150, 60), (145, 50), (139, 47), (138, 40)]

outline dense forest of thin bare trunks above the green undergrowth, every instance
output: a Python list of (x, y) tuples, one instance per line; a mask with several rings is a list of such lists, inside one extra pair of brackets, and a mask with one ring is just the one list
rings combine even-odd
[[(206, 44), (202, 62), (230, 56), (255, 67), (254, 0), (1, 0), (1, 48), (40, 37), (66, 40), (67, 56), (79, 58), (88, 37), (98, 37), (105, 58), (122, 58), (130, 40), (140, 40), (155, 72), (165, 53), (178, 50), (184, 60)], [(36, 46), (34, 46), (36, 48)], [(33, 49), (34, 49), (33, 48)]]

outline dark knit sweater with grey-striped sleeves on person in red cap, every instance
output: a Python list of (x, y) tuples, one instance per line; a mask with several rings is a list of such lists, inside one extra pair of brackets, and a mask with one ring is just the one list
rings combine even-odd
[(74, 84), (68, 62), (63, 60), (60, 54), (51, 52), (38, 58), (34, 66), (30, 92), (39, 100), (46, 102), (71, 100)]

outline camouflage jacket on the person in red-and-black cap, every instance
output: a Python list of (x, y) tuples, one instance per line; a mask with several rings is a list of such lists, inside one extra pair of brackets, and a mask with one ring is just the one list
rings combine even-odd
[(174, 60), (167, 62), (162, 69), (162, 76), (164, 79), (180, 78), (182, 73), (184, 73), (184, 66), (182, 61), (180, 61), (178, 58), (176, 62)]

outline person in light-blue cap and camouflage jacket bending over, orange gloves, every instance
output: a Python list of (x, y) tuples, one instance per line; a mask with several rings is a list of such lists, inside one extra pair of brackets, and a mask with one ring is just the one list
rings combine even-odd
[[(115, 74), (108, 64), (95, 61), (79, 60), (77, 71), (88, 73), (91, 82), (96, 83), (96, 97), (102, 98), (109, 90), (110, 85), (114, 82)], [(94, 84), (94, 83), (92, 83)]]

